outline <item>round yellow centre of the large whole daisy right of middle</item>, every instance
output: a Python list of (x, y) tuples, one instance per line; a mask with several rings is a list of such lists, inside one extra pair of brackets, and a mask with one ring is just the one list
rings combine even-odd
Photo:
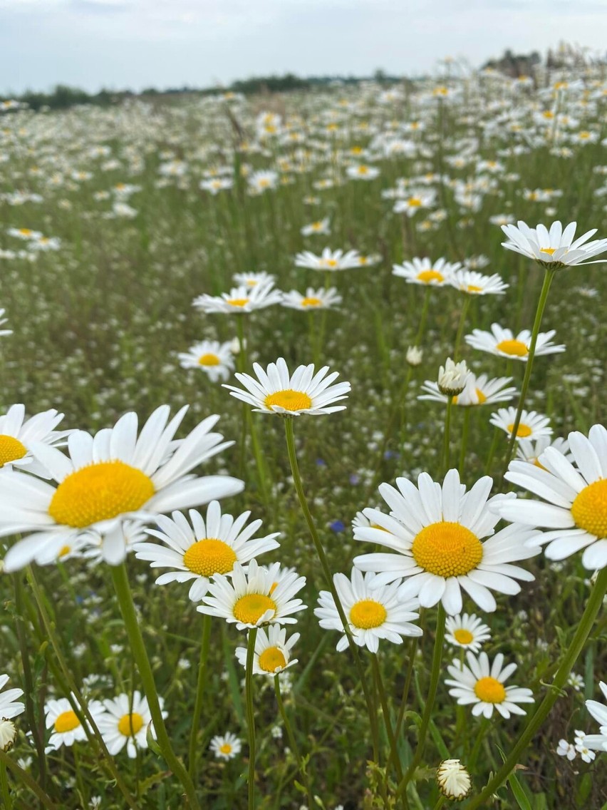
[(416, 535), (411, 553), (420, 568), (439, 577), (459, 577), (482, 561), (482, 543), (461, 523), (441, 520)]

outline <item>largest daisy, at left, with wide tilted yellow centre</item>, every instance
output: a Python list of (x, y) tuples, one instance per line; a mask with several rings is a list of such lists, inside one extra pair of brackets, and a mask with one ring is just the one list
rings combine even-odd
[(0, 491), (0, 537), (32, 534), (9, 549), (4, 569), (23, 568), (38, 554), (58, 556), (64, 546), (71, 547), (91, 531), (104, 537), (104, 560), (118, 565), (126, 554), (125, 520), (151, 522), (171, 509), (241, 492), (243, 482), (228, 475), (190, 475), (232, 442), (222, 441), (221, 433), (210, 433), (219, 416), (209, 416), (185, 439), (174, 441), (187, 409), (182, 407), (169, 420), (168, 405), (160, 406), (139, 436), (133, 412), (95, 436), (75, 430), (67, 440), (68, 456), (40, 441), (32, 443), (34, 458), (56, 484), (20, 471), (6, 475)]

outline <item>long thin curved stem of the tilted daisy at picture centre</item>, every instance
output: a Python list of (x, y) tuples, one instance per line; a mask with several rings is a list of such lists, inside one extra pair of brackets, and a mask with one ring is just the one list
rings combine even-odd
[(335, 608), (337, 609), (337, 614), (339, 615), (339, 619), (342, 622), (342, 627), (344, 633), (346, 633), (346, 638), (348, 639), (348, 644), (350, 645), (350, 652), (354, 658), (354, 666), (356, 667), (360, 684), (363, 687), (363, 693), (365, 696), (365, 701), (367, 701), (367, 711), (369, 713), (369, 722), (371, 723), (371, 735), (373, 738), (373, 759), (377, 761), (378, 749), (379, 749), (379, 738), (377, 733), (377, 717), (376, 713), (373, 709), (373, 703), (371, 701), (371, 693), (369, 693), (369, 689), (367, 687), (367, 678), (365, 677), (365, 671), (363, 669), (363, 663), (361, 662), (359, 649), (352, 638), (352, 633), (350, 633), (350, 625), (348, 624), (348, 620), (346, 618), (346, 613), (344, 612), (341, 599), (337, 595), (337, 589), (335, 587), (335, 583), (333, 582), (333, 576), (331, 575), (331, 569), (329, 568), (329, 561), (327, 560), (327, 556), (325, 554), (325, 549), (320, 542), (320, 536), (318, 535), (318, 530), (316, 529), (316, 523), (314, 522), (314, 518), (312, 518), (312, 513), (310, 512), (310, 507), (308, 506), (308, 501), (305, 496), (304, 486), (301, 483), (301, 475), (299, 475), (299, 464), (297, 463), (297, 453), (295, 451), (295, 434), (293, 432), (293, 419), (292, 416), (287, 416), (285, 418), (285, 433), (287, 435), (287, 452), (289, 454), (289, 463), (291, 464), (291, 475), (293, 475), (293, 483), (295, 484), (295, 492), (297, 492), (297, 497), (299, 498), (299, 505), (301, 506), (302, 512), (304, 513), (304, 518), (306, 519), (306, 523), (308, 524), (308, 531), (310, 532), (310, 536), (312, 537), (312, 543), (314, 544), (314, 548), (316, 548), (316, 554), (318, 555), (318, 559), (320, 560), (320, 567), (325, 575), (325, 582), (331, 595), (333, 596), (333, 602), (335, 603)]

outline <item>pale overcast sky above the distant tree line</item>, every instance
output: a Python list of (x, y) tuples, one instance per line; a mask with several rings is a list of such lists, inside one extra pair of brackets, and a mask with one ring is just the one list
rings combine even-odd
[(607, 0), (0, 0), (0, 94), (252, 75), (397, 75), (559, 40), (605, 52)]

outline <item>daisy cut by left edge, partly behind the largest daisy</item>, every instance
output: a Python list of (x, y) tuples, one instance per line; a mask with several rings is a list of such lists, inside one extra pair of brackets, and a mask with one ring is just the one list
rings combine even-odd
[(11, 405), (6, 414), (0, 416), (0, 468), (28, 467), (28, 472), (44, 475), (44, 467), (36, 463), (29, 448), (33, 442), (65, 443), (70, 431), (55, 430), (62, 419), (63, 414), (54, 408), (26, 419), (24, 405)]

